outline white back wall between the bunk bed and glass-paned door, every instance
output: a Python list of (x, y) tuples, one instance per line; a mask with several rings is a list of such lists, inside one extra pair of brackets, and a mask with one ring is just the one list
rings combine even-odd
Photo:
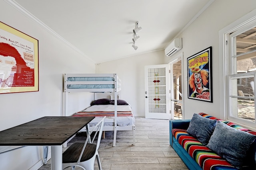
[(98, 64), (97, 73), (117, 73), (122, 80), (121, 99), (132, 106), (134, 116), (145, 116), (144, 66), (164, 63), (164, 51), (156, 51)]

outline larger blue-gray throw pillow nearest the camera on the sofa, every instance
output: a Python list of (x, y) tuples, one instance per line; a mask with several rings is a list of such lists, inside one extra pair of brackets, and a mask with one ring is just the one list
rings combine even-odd
[(255, 137), (218, 121), (207, 147), (240, 169)]

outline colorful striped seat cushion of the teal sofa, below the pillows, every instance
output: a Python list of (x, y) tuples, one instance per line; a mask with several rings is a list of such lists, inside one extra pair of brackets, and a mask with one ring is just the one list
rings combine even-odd
[(172, 134), (203, 170), (236, 170), (228, 161), (186, 133), (186, 130), (172, 129)]

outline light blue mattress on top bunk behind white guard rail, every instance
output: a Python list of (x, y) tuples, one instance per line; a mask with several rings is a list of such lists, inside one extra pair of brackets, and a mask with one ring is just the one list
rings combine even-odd
[[(90, 82), (90, 81), (114, 81), (114, 77), (68, 77), (67, 81)], [(69, 84), (69, 89), (95, 89), (114, 88), (114, 84)]]

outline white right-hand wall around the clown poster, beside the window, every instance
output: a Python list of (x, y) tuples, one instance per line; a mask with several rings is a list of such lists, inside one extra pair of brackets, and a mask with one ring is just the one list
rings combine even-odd
[[(255, 0), (215, 0), (179, 37), (182, 37), (183, 62), (187, 58), (212, 46), (212, 92), (213, 103), (188, 99), (188, 81), (184, 85), (184, 118), (190, 119), (193, 113), (204, 112), (215, 117), (223, 117), (223, 98), (220, 96), (219, 39), (218, 32), (256, 8)], [(166, 59), (166, 62), (168, 59)], [(183, 69), (187, 76), (187, 65)], [(186, 77), (187, 78), (187, 77)], [(223, 86), (223, 85), (222, 85)]]

